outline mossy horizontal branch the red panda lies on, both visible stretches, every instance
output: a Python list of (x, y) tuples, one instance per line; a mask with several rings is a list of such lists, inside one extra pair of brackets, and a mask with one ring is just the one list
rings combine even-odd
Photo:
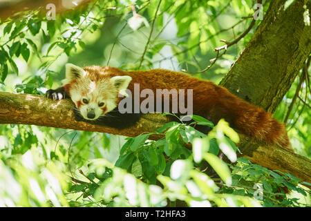
[[(105, 126), (95, 126), (75, 121), (73, 103), (69, 100), (53, 101), (43, 96), (0, 92), (0, 124), (32, 124), (70, 128), (80, 131), (97, 131), (117, 135), (135, 136), (144, 132), (156, 131), (167, 117), (159, 114), (144, 115), (140, 122), (131, 128), (117, 130)], [(152, 137), (157, 139), (158, 137)], [(248, 144), (243, 155), (252, 162), (269, 169), (292, 173), (301, 180), (311, 182), (311, 161), (278, 146), (257, 147)]]

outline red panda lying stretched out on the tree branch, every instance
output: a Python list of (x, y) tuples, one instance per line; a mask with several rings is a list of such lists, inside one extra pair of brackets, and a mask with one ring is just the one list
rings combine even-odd
[[(259, 144), (290, 148), (285, 126), (273, 119), (270, 113), (245, 102), (226, 88), (185, 73), (164, 69), (127, 72), (108, 66), (80, 68), (66, 64), (65, 81), (64, 86), (48, 90), (46, 95), (52, 99), (70, 98), (75, 103), (78, 120), (117, 128), (128, 127), (135, 124), (142, 113), (120, 113), (118, 104), (122, 98), (119, 95), (126, 95), (126, 90), (133, 93), (134, 84), (139, 84), (141, 90), (149, 88), (154, 93), (159, 88), (191, 88), (195, 115), (206, 117), (214, 124), (223, 118), (238, 133), (253, 138)], [(185, 96), (187, 100), (187, 93)], [(170, 102), (173, 102), (171, 98)]]

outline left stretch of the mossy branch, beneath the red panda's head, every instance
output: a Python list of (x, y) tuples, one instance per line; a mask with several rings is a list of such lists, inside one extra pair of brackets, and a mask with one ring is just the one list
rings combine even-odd
[(32, 124), (133, 137), (146, 131), (155, 131), (166, 119), (162, 115), (144, 115), (135, 126), (118, 130), (77, 122), (73, 114), (73, 103), (67, 99), (53, 101), (38, 95), (0, 92), (0, 124)]

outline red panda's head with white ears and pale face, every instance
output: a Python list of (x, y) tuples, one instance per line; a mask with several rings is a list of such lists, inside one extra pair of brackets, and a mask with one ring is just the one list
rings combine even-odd
[(71, 100), (84, 119), (95, 120), (117, 107), (118, 94), (124, 95), (130, 76), (114, 76), (104, 68), (80, 68), (66, 64), (66, 85)]

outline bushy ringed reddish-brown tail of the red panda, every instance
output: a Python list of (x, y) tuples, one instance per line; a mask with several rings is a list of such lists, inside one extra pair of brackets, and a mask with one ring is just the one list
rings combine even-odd
[(259, 144), (276, 144), (292, 149), (284, 124), (273, 119), (263, 108), (245, 102), (227, 89), (218, 87), (217, 90), (216, 115), (224, 115), (236, 131), (254, 138)]

